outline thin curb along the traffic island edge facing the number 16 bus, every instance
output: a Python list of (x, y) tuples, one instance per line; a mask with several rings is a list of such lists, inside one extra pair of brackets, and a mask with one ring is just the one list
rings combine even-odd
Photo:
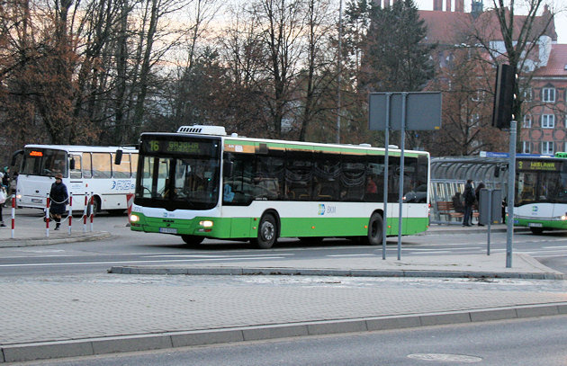
[(114, 274), (184, 274), (184, 275), (292, 275), (292, 276), (346, 276), (346, 277), (446, 277), (446, 278), (510, 278), (524, 280), (565, 280), (563, 273), (526, 272), (470, 272), (470, 271), (428, 271), (428, 270), (334, 270), (307, 268), (261, 268), (261, 267), (193, 267), (164, 268), (113, 266), (108, 271)]

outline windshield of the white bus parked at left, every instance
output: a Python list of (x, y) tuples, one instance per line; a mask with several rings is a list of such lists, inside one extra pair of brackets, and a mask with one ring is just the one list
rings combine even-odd
[(67, 178), (67, 152), (52, 148), (26, 147), (20, 173), (43, 176), (60, 173)]

